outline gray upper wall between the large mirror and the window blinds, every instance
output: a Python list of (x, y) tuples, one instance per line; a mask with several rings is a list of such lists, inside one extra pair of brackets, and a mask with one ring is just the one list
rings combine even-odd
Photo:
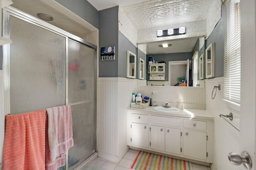
[(221, 8), (221, 18), (220, 21), (215, 26), (211, 35), (206, 40), (205, 49), (212, 43), (215, 43), (215, 61), (214, 61), (214, 70), (215, 77), (224, 76), (224, 30), (226, 29), (226, 8), (222, 5)]

